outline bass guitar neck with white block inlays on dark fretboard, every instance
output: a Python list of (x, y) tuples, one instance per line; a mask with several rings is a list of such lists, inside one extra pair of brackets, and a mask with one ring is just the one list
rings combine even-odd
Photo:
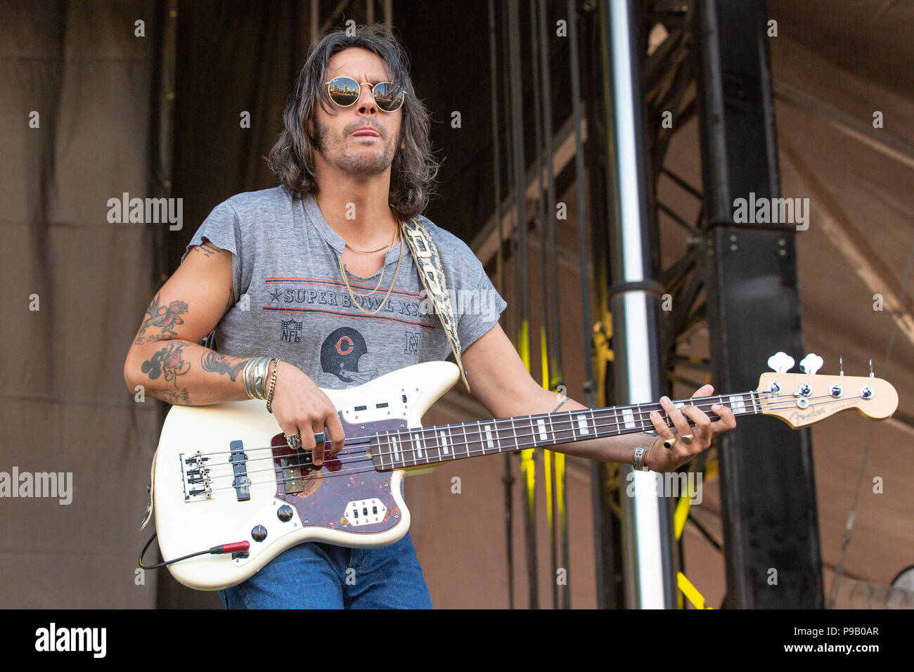
[[(711, 406), (728, 406), (734, 415), (762, 412), (759, 392), (725, 394), (699, 399), (674, 400), (678, 407), (692, 404), (709, 419), (719, 416)], [(478, 455), (544, 448), (654, 429), (651, 411), (659, 411), (673, 426), (659, 402), (609, 406), (602, 409), (556, 411), (454, 424), (418, 427), (400, 432), (382, 432), (372, 437), (372, 461), (377, 469), (390, 471), (421, 464), (438, 464)], [(689, 424), (694, 424), (688, 419)]]

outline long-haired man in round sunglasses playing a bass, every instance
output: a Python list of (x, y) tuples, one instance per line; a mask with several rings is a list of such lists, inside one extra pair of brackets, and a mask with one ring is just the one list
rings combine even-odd
[[(530, 377), (498, 324), (506, 304), (482, 263), (421, 214), (438, 164), (429, 112), (397, 39), (381, 26), (326, 35), (295, 83), (283, 123), (269, 156), (280, 186), (228, 198), (197, 230), (146, 311), (124, 364), (128, 389), (143, 385), (173, 404), (246, 400), (260, 398), (250, 377), (269, 374), (271, 411), (290, 443), (313, 451), (326, 428), (334, 455), (345, 436), (322, 388), (451, 356), (438, 317), (421, 309), (419, 271), (402, 240), (401, 222), (418, 218), (452, 295), (472, 297), (455, 319), (473, 395), (496, 418), (553, 411), (556, 395)], [(214, 328), (218, 352), (197, 345)], [(711, 391), (706, 385), (695, 396)], [(558, 450), (672, 471), (736, 425), (726, 407), (712, 422), (694, 406), (661, 403), (690, 443), (661, 446), (675, 434), (654, 413), (656, 436)], [(563, 410), (584, 408), (567, 400)], [(314, 464), (322, 453), (313, 453)], [(353, 571), (357, 580), (347, 581)], [(299, 544), (219, 594), (229, 608), (431, 606), (409, 533), (372, 549)]]

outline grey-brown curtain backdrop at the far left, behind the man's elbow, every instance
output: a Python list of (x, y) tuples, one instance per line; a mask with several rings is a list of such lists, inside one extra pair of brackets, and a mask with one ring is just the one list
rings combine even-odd
[(135, 568), (161, 405), (122, 367), (167, 225), (107, 202), (157, 195), (162, 6), (0, 2), (0, 473), (71, 484), (69, 504), (0, 498), (2, 607), (154, 606)]

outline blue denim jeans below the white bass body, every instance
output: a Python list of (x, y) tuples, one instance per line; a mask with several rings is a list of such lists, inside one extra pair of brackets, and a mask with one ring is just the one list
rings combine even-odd
[(227, 609), (431, 609), (409, 532), (371, 549), (307, 541), (219, 597)]

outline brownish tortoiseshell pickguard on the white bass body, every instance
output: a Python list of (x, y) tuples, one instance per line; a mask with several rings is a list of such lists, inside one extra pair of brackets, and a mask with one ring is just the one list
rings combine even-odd
[[(324, 443), (324, 464), (314, 467), (311, 453), (295, 451), (285, 435), (272, 438), (273, 470), (276, 474), (276, 498), (298, 511), (304, 525), (344, 530), (354, 534), (377, 534), (394, 527), (400, 520), (400, 509), (390, 492), (390, 472), (378, 472), (367, 454), (368, 439), (377, 432), (406, 428), (402, 420), (350, 424), (342, 414), (345, 432), (343, 450), (330, 457), (330, 442)], [(329, 436), (328, 433), (324, 434)], [(377, 497), (387, 507), (384, 519), (377, 523), (353, 526), (345, 519), (345, 507), (351, 501)]]

